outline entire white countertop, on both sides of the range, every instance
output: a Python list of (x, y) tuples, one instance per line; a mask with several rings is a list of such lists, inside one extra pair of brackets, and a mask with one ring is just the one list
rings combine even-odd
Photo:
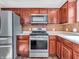
[[(17, 35), (29, 35), (31, 31), (23, 31), (21, 34)], [(77, 32), (64, 32), (64, 31), (47, 31), (49, 35), (57, 35), (63, 37), (73, 43), (79, 44), (79, 33)]]

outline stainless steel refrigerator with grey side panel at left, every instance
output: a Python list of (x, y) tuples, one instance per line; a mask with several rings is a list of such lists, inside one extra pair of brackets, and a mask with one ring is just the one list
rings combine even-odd
[(12, 11), (1, 11), (0, 59), (16, 58), (16, 34), (20, 32), (20, 17)]

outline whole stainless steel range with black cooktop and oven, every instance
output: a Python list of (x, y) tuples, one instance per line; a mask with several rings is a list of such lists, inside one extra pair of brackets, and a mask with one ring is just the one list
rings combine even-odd
[(46, 31), (37, 30), (30, 34), (29, 57), (48, 57), (48, 34)]

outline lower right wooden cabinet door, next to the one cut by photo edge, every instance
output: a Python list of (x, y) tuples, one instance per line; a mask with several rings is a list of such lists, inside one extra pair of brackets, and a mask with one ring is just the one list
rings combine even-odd
[(72, 59), (72, 49), (63, 45), (62, 59)]

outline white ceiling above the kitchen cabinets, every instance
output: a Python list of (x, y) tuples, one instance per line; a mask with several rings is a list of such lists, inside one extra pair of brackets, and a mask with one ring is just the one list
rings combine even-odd
[(67, 0), (0, 0), (1, 8), (60, 8)]

